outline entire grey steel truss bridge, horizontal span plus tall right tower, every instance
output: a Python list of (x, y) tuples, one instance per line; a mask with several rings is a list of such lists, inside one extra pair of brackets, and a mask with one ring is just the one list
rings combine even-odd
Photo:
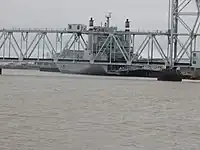
[[(190, 8), (190, 9), (188, 9)], [(189, 10), (189, 11), (188, 11)], [(83, 51), (87, 49), (87, 36), (95, 34), (107, 35), (98, 52), (88, 63), (113, 65), (169, 65), (189, 66), (192, 52), (198, 50), (199, 33), (199, 0), (169, 0), (169, 28), (167, 31), (117, 31), (117, 32), (69, 32), (67, 29), (0, 29), (0, 61), (33, 62), (62, 61), (81, 63), (81, 60), (62, 58), (67, 50)], [(187, 21), (189, 20), (189, 23)], [(129, 50), (125, 50), (120, 35), (130, 38)], [(110, 52), (115, 45), (124, 57), (123, 62), (97, 61), (98, 56)], [(126, 48), (127, 49), (127, 48)], [(133, 55), (133, 53), (135, 55)], [(141, 59), (145, 57), (145, 59)], [(183, 61), (184, 59), (188, 61)]]

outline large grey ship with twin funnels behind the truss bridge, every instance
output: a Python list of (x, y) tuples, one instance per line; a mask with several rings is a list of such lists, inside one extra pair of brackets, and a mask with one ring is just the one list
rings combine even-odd
[[(85, 50), (66, 49), (61, 54), (61, 58), (74, 60), (69, 63), (59, 62), (58, 68), (63, 73), (79, 73), (79, 74), (98, 74), (105, 75), (112, 70), (118, 70), (123, 66), (108, 64), (92, 64), (95, 62), (115, 62), (123, 63), (129, 58), (133, 58), (130, 32), (130, 21), (125, 20), (125, 30), (119, 31), (117, 27), (110, 26), (111, 14), (106, 16), (104, 26), (95, 26), (91, 17), (89, 20), (89, 29), (82, 24), (69, 24), (68, 30), (72, 32), (88, 32), (87, 48)], [(126, 32), (126, 34), (124, 34)], [(117, 36), (113, 36), (116, 34)], [(77, 62), (82, 61), (81, 63)], [(85, 62), (85, 63), (84, 63)]]

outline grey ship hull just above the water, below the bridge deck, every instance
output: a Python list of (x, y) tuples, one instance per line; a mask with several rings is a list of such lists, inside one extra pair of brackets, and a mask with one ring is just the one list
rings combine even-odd
[(68, 63), (57, 64), (61, 73), (86, 74), (86, 75), (107, 75), (107, 65)]

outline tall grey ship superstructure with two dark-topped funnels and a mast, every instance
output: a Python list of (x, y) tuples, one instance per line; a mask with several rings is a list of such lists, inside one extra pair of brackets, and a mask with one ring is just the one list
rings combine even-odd
[[(121, 53), (122, 47), (125, 48), (126, 54), (128, 54), (131, 48), (129, 35), (119, 34), (115, 38), (112, 37), (112, 34), (120, 31), (118, 31), (117, 27), (110, 26), (110, 14), (106, 18), (107, 20), (104, 26), (94, 26), (94, 20), (90, 18), (89, 31), (95, 32), (96, 34), (88, 35), (88, 50), (91, 51), (93, 57), (104, 51), (104, 56), (107, 56), (112, 62), (123, 61), (124, 56)], [(130, 31), (130, 22), (128, 19), (125, 22), (125, 28), (126, 32)], [(128, 56), (126, 55), (125, 57)]]

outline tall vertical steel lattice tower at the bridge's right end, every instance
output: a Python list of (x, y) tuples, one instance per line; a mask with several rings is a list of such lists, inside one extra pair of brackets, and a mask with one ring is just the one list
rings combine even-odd
[[(197, 49), (200, 26), (199, 0), (169, 0), (169, 2), (170, 65), (179, 63), (184, 56), (187, 56), (191, 63), (192, 51)], [(184, 40), (180, 36), (183, 32), (187, 35)]]

